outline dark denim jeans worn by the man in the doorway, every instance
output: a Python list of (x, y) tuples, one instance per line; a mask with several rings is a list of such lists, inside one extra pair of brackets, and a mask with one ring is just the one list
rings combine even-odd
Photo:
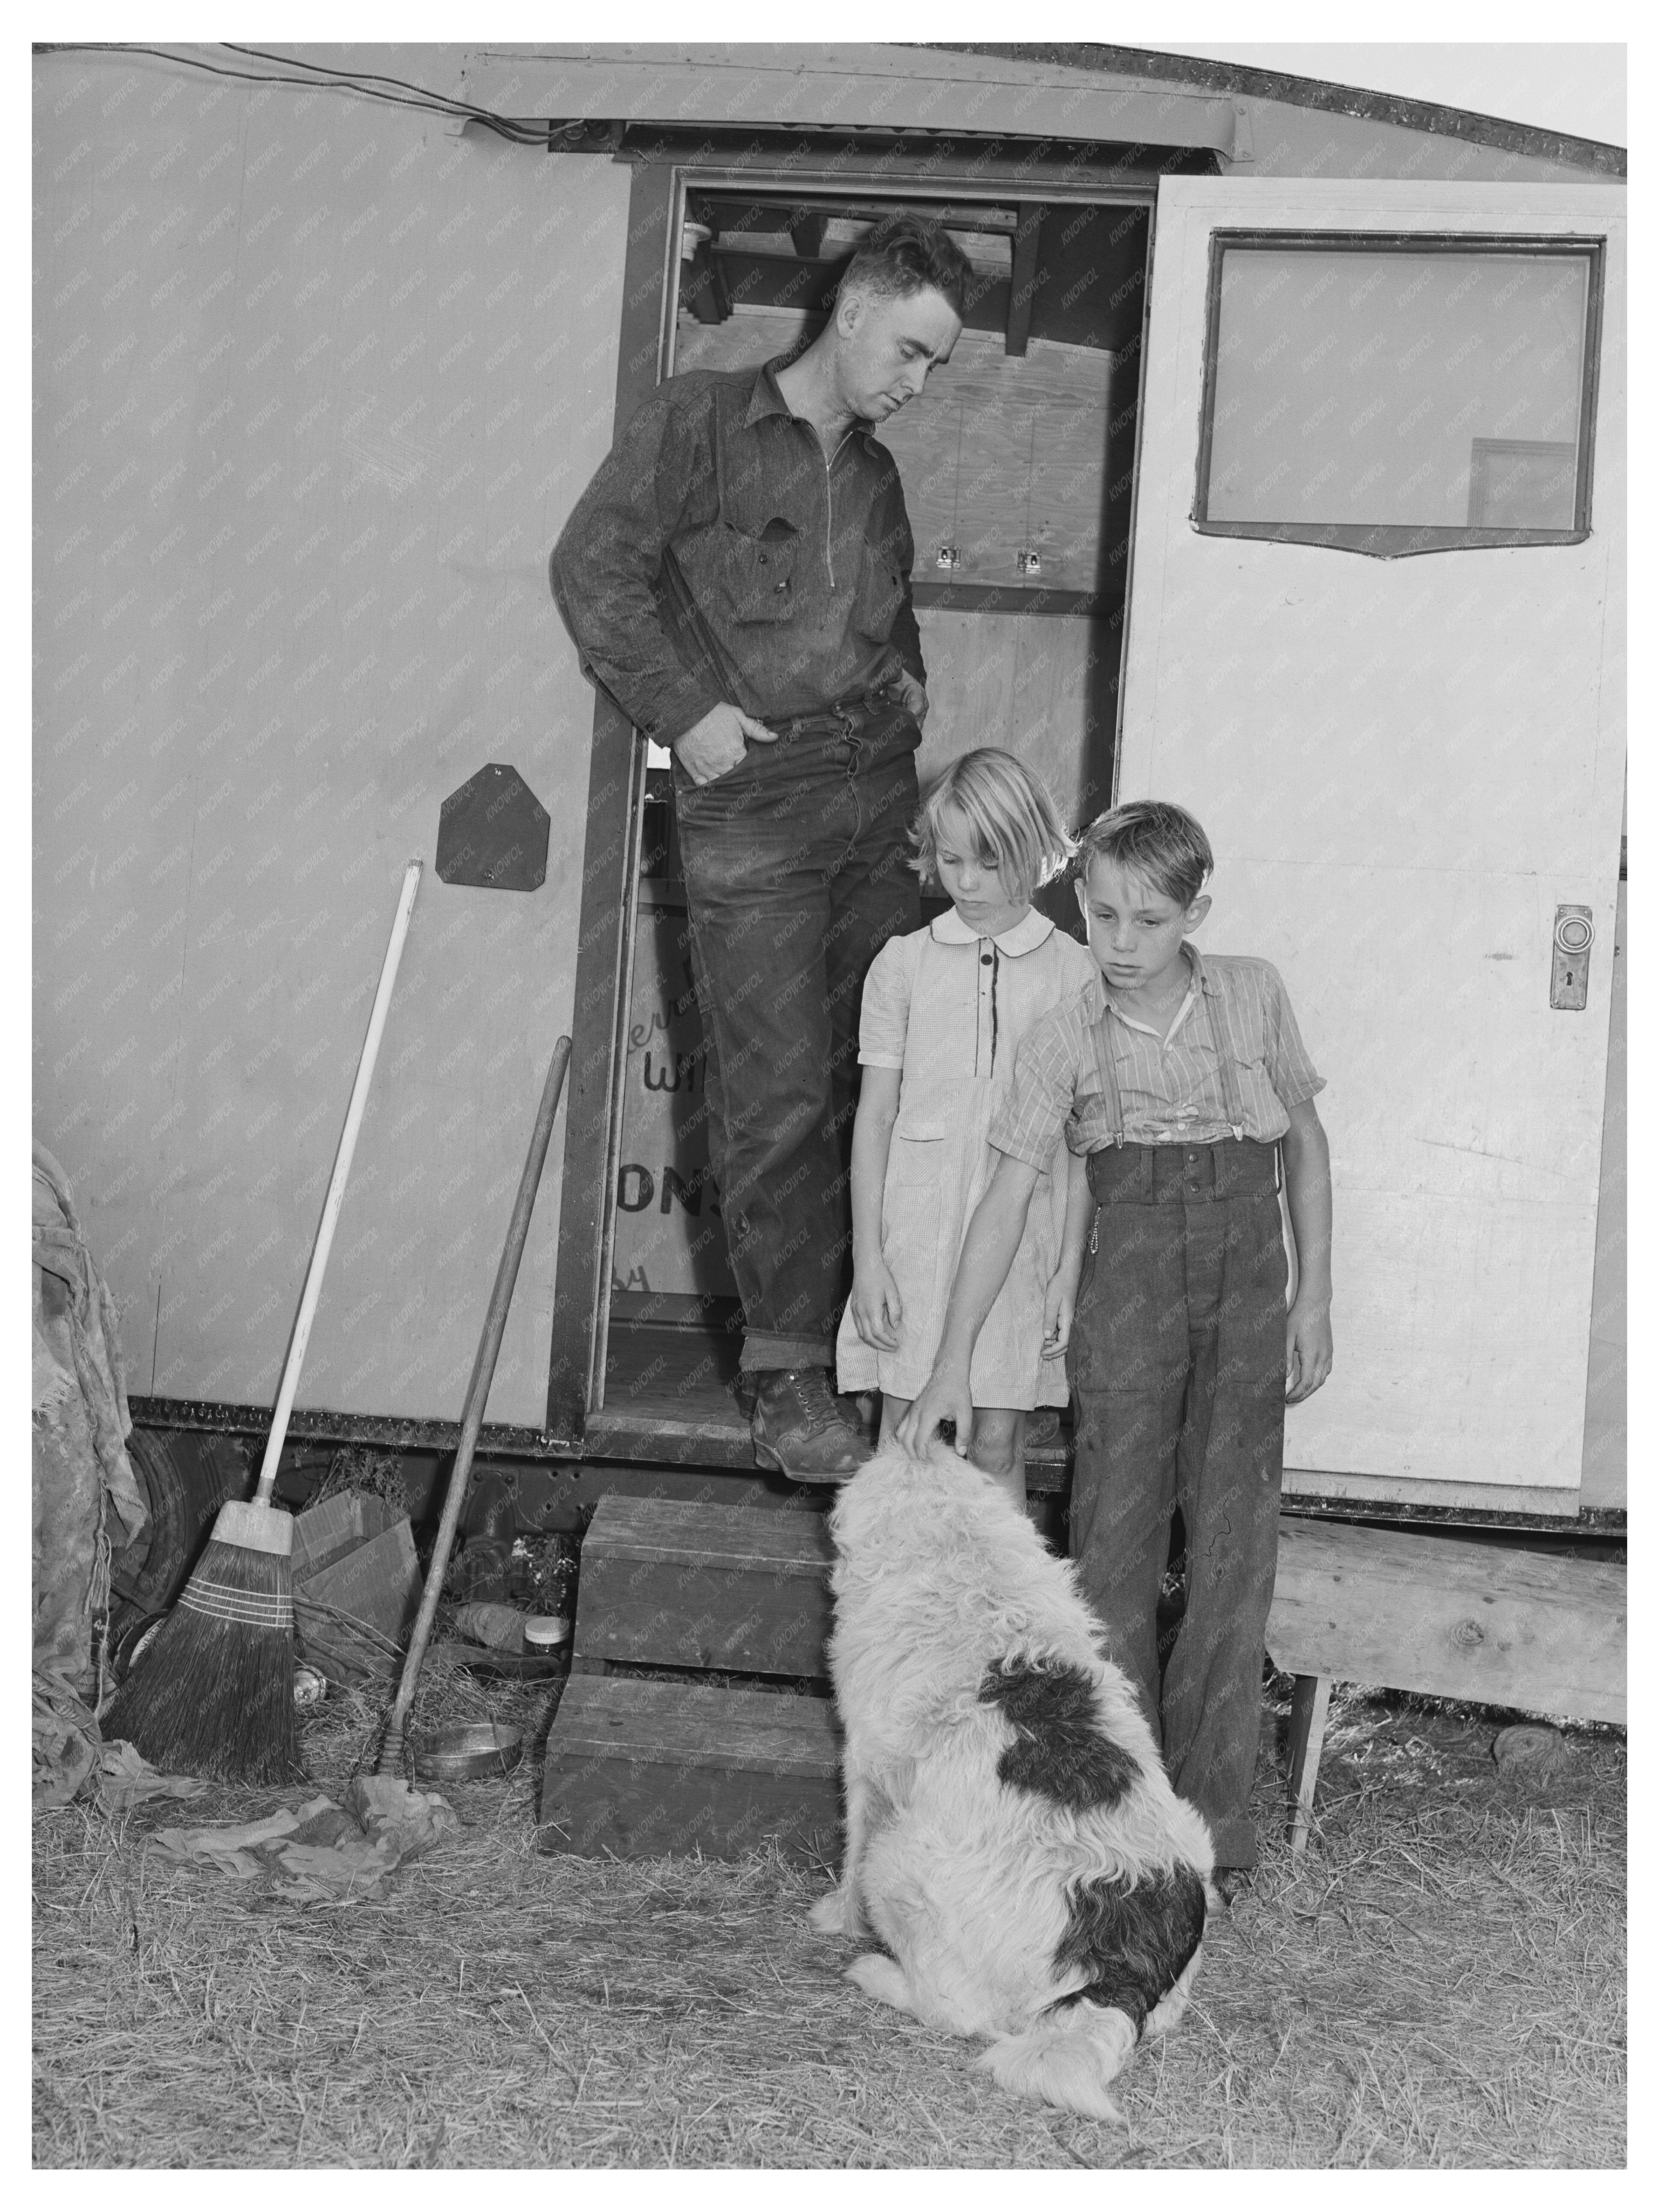
[(708, 1152), (748, 1371), (834, 1365), (858, 995), (887, 938), (920, 925), (916, 743), (914, 719), (885, 710), (750, 743), (712, 783), (675, 761)]

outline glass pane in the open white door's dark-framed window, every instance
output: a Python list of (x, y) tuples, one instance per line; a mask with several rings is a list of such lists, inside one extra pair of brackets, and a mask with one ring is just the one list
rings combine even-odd
[(1571, 531), (1582, 252), (1225, 246), (1201, 520)]

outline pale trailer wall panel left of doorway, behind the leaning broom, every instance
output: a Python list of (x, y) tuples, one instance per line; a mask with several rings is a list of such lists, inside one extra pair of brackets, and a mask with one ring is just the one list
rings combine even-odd
[[(133, 1387), (270, 1400), (409, 854), (511, 761), (542, 891), (416, 905), (301, 1405), (456, 1418), (571, 1024), (626, 170), (38, 58), (35, 1128)], [(546, 1396), (555, 1139), (491, 1420)]]

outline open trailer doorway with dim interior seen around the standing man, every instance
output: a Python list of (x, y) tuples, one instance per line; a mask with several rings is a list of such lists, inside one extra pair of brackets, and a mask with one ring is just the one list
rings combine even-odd
[[(1018, 752), (1062, 814), (1110, 805), (1139, 431), (1152, 192), (1026, 201), (816, 188), (792, 177), (686, 181), (664, 374), (761, 367), (823, 327), (874, 221), (945, 221), (973, 281), (945, 369), (883, 442), (905, 482), (927, 661), (922, 785), (975, 745)], [(648, 748), (617, 1026), (622, 1066), (606, 1237), (599, 1405), (588, 1438), (730, 1431), (741, 1307), (708, 1177), (703, 1035), (668, 752)], [(1075, 925), (1064, 885), (1040, 898)], [(922, 920), (945, 900), (922, 900)], [(695, 1455), (703, 1455), (699, 1449)], [(712, 1455), (712, 1453), (710, 1453)]]

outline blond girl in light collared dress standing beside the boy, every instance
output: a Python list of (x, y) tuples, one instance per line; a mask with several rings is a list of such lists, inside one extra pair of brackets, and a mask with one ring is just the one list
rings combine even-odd
[[(1086, 947), (1031, 905), (1073, 841), (1011, 752), (982, 748), (931, 785), (911, 830), (916, 869), (951, 900), (927, 929), (889, 938), (865, 978), (852, 1139), (854, 1283), (836, 1340), (843, 1391), (883, 1391), (894, 1440), (938, 1352), (956, 1259), (998, 1155), (991, 1115), (1020, 1040), (1099, 989)], [(1024, 1418), (1066, 1402), (1068, 1296), (1060, 1281), (1073, 1161), (1055, 1146), (1009, 1281), (973, 1354), (971, 1458), (1024, 1502)]]

